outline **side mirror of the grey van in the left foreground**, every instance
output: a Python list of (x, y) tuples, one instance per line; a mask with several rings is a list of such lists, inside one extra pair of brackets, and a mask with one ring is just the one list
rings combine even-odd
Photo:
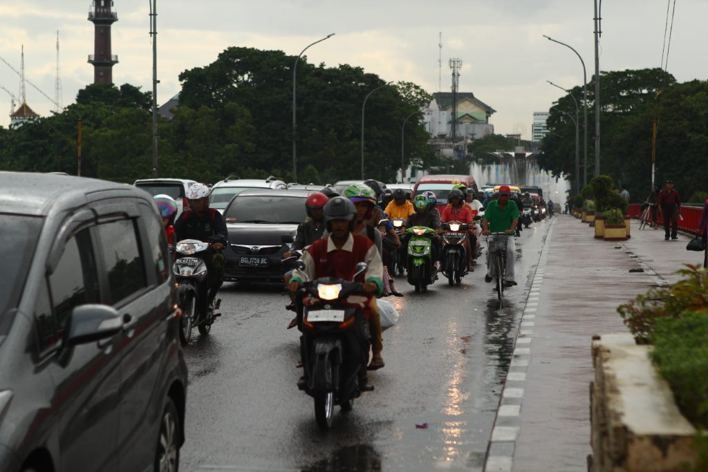
[(76, 306), (69, 316), (67, 346), (93, 343), (120, 333), (123, 320), (112, 306), (88, 304)]

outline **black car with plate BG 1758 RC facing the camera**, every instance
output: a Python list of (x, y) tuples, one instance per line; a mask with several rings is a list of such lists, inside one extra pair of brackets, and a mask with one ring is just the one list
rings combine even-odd
[(224, 210), (229, 229), (226, 280), (278, 282), (287, 270), (280, 261), (307, 217), (306, 190), (244, 190)]

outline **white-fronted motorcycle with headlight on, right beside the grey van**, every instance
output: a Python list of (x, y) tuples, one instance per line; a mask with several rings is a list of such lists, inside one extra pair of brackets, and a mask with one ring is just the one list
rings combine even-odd
[(180, 318), (180, 340), (189, 343), (192, 328), (198, 328), (201, 335), (208, 335), (214, 320), (221, 316), (217, 313), (221, 299), (207, 303), (209, 295), (208, 272), (205, 258), (212, 253), (211, 243), (196, 239), (179, 241), (175, 246), (176, 258), (172, 272), (178, 284), (178, 293), (182, 318)]

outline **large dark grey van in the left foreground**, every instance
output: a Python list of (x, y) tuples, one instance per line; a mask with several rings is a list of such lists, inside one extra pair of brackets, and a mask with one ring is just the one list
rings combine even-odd
[(187, 367), (152, 197), (34, 173), (0, 188), (0, 471), (175, 471)]

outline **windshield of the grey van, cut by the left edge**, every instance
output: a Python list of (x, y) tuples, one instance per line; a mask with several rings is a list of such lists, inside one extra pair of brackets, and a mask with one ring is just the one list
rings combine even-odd
[(3, 283), (0, 284), (0, 326), (4, 313), (18, 304), (42, 221), (40, 217), (0, 213), (0, 247), (5, 249)]

